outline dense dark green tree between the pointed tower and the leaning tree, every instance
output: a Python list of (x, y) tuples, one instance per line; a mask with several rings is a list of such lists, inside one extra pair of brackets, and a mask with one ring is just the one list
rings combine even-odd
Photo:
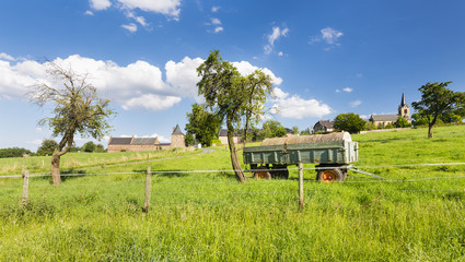
[[(211, 141), (218, 139), (221, 120), (217, 115), (207, 111), (198, 104), (193, 105), (193, 111), (187, 114), (186, 133), (199, 141), (202, 145), (210, 146)], [(194, 141), (193, 141), (194, 142)]]

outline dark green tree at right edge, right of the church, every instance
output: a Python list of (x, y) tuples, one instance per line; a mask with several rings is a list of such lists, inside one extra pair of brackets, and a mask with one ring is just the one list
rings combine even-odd
[(428, 138), (432, 138), (432, 128), (439, 119), (449, 115), (465, 117), (465, 93), (453, 92), (446, 86), (452, 83), (427, 83), (422, 85), (421, 99), (411, 103), (420, 117), (428, 120)]

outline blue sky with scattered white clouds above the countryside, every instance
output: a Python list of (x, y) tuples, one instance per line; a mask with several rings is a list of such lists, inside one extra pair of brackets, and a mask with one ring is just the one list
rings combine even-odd
[(464, 12), (463, 0), (1, 1), (0, 148), (51, 138), (38, 121), (53, 105), (26, 96), (46, 60), (90, 75), (112, 100), (112, 136), (184, 131), (211, 50), (244, 75), (271, 76), (267, 119), (287, 128), (397, 114), (403, 92), (410, 104), (428, 82), (465, 91)]

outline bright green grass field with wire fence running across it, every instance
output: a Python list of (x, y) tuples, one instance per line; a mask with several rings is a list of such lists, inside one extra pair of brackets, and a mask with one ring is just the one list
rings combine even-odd
[[(69, 155), (82, 176), (58, 188), (32, 178), (25, 207), (22, 180), (0, 178), (0, 261), (465, 261), (465, 165), (397, 166), (465, 163), (465, 127), (434, 132), (352, 135), (357, 166), (385, 180), (351, 172), (344, 183), (319, 183), (305, 165), (302, 211), (294, 167), (289, 180), (239, 184), (224, 146), (148, 163), (128, 163), (147, 158), (128, 153)], [(127, 165), (104, 169), (95, 157)], [(3, 160), (7, 175), (25, 159)], [(162, 172), (142, 214), (149, 165)], [(85, 175), (103, 171), (112, 175)]]

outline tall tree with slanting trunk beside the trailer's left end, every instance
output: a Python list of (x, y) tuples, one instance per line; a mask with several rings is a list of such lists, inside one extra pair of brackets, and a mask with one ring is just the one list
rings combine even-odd
[(242, 76), (232, 63), (222, 60), (218, 50), (210, 52), (197, 72), (201, 78), (197, 83), (198, 93), (204, 95), (206, 106), (226, 123), (231, 164), (237, 180), (245, 182), (233, 135), (243, 123), (246, 141), (249, 126), (261, 119), (265, 100), (272, 92), (271, 78), (260, 70)]

